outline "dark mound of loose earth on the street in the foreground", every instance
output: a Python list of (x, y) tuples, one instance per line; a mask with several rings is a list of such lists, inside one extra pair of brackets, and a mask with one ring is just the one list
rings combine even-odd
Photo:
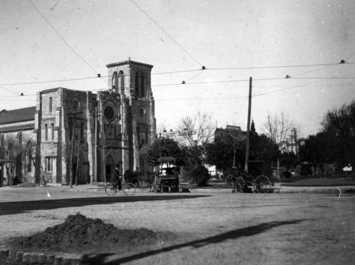
[(154, 244), (161, 236), (145, 228), (119, 229), (101, 219), (75, 214), (69, 215), (64, 223), (29, 237), (11, 238), (9, 243), (16, 249), (97, 253)]

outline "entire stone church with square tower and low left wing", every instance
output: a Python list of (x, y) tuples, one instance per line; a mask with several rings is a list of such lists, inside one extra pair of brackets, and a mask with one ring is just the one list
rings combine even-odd
[(121, 174), (150, 166), (146, 149), (156, 120), (150, 86), (152, 65), (132, 60), (107, 65), (109, 89), (65, 88), (38, 93), (35, 107), (0, 112), (3, 185), (21, 182), (103, 182), (120, 165)]

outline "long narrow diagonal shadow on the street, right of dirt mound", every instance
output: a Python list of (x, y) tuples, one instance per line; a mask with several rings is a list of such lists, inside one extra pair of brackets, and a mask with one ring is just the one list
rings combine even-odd
[(115, 258), (117, 255), (114, 253), (102, 253), (99, 255), (95, 255), (94, 257), (88, 256), (84, 259), (82, 264), (85, 265), (118, 265), (118, 264), (123, 264), (127, 262), (132, 262), (135, 260), (139, 260), (142, 258), (146, 258), (149, 256), (161, 254), (164, 252), (169, 252), (173, 251), (176, 249), (181, 249), (185, 247), (193, 247), (195, 249), (201, 248), (204, 246), (207, 246), (209, 244), (216, 244), (223, 242), (225, 240), (234, 240), (238, 239), (240, 237), (248, 237), (248, 236), (254, 236), (256, 234), (263, 233), (267, 230), (270, 230), (274, 227), (282, 226), (282, 225), (290, 225), (290, 224), (297, 224), (301, 221), (304, 220), (289, 220), (289, 221), (273, 221), (273, 222), (266, 222), (266, 223), (261, 223), (258, 225), (253, 225), (253, 226), (248, 226), (245, 228), (240, 228), (240, 229), (235, 229), (231, 230), (225, 233), (221, 233), (215, 236), (207, 237), (204, 239), (199, 239), (199, 240), (194, 240), (182, 244), (177, 244), (169, 247), (165, 247), (162, 249), (157, 249), (157, 250), (151, 250), (143, 253), (138, 253), (134, 254), (128, 257), (120, 257), (120, 258)]

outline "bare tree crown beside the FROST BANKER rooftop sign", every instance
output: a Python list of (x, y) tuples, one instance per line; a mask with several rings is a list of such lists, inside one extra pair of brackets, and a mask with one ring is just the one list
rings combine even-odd
[(178, 126), (178, 141), (190, 147), (205, 145), (213, 140), (214, 129), (211, 114), (201, 111), (191, 116), (186, 114)]

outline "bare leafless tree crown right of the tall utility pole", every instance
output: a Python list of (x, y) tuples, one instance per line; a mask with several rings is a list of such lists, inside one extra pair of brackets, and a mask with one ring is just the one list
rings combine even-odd
[(294, 135), (294, 130), (299, 133), (301, 131), (300, 125), (296, 125), (284, 111), (280, 114), (268, 112), (266, 122), (262, 127), (262, 131), (270, 137), (274, 143), (279, 145), (279, 147), (281, 142), (286, 141), (287, 138)]

